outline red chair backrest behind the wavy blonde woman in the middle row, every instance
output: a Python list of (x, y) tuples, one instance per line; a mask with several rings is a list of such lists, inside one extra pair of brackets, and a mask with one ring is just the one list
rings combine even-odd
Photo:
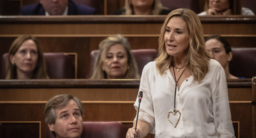
[[(93, 50), (91, 52), (89, 72), (87, 73), (86, 78), (90, 78), (90, 76), (93, 73), (93, 65), (98, 53), (99, 50)], [(144, 66), (156, 58), (158, 51), (156, 49), (132, 49), (131, 53), (132, 55), (134, 55), (134, 58), (136, 59), (136, 62), (138, 64), (138, 71), (139, 74), (141, 75)]]

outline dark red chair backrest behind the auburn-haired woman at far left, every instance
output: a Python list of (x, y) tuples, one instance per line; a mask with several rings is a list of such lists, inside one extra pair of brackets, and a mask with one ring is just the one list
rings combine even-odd
[[(47, 74), (50, 79), (75, 79), (75, 60), (74, 57), (67, 53), (44, 53), (46, 60)], [(6, 76), (6, 60), (8, 53), (5, 53), (1, 58), (0, 79), (5, 79)]]

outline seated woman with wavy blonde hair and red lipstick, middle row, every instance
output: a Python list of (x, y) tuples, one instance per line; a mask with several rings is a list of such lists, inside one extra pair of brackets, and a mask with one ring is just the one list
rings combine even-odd
[(119, 34), (108, 37), (100, 42), (99, 48), (90, 79), (140, 79), (130, 43), (125, 37)]

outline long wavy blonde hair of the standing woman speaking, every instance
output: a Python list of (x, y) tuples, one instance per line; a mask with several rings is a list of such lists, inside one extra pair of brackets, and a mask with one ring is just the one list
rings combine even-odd
[(186, 22), (189, 33), (189, 47), (187, 50), (188, 53), (183, 60), (184, 64), (187, 65), (186, 68), (191, 71), (194, 81), (198, 81), (200, 83), (208, 73), (210, 56), (205, 49), (202, 24), (196, 13), (192, 10), (173, 10), (166, 17), (158, 39), (159, 53), (158, 58), (155, 59), (156, 67), (159, 70), (160, 75), (162, 75), (166, 68), (169, 68), (172, 63), (172, 56), (168, 55), (164, 42), (166, 25), (172, 17), (180, 17)]

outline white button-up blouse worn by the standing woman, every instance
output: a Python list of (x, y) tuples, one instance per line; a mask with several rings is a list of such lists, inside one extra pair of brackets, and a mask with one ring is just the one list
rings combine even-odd
[[(224, 69), (210, 59), (210, 69), (200, 84), (190, 76), (176, 90), (176, 109), (180, 120), (174, 128), (168, 112), (174, 109), (175, 80), (170, 69), (161, 76), (156, 61), (148, 63), (142, 72), (140, 89), (143, 98), (138, 119), (148, 122), (156, 138), (235, 138), (228, 102)], [(138, 111), (138, 98), (134, 103)], [(170, 114), (174, 124), (179, 114)], [(135, 119), (136, 120), (136, 117)]]

